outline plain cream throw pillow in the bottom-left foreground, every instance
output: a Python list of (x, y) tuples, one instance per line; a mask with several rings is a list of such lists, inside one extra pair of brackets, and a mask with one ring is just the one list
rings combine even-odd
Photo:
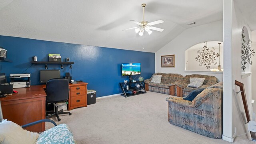
[(0, 144), (34, 144), (38, 136), (12, 121), (3, 120), (0, 123)]

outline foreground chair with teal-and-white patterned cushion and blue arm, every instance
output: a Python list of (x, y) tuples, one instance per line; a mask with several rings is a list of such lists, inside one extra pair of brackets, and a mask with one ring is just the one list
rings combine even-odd
[[(41, 122), (52, 122), (54, 127), (40, 134), (23, 129)], [(23, 126), (2, 120), (0, 121), (0, 144), (76, 144), (76, 141), (66, 124), (57, 126), (53, 120), (38, 120)]]

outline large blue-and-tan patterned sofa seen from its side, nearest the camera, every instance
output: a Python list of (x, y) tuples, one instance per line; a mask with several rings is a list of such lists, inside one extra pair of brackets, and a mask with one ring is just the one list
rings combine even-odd
[(192, 132), (221, 138), (223, 82), (204, 89), (192, 101), (179, 97), (166, 98), (168, 121)]

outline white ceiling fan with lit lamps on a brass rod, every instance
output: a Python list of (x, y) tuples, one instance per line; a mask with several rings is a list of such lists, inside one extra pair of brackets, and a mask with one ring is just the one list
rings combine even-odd
[(143, 36), (144, 31), (148, 32), (148, 34), (151, 34), (151, 33), (152, 33), (151, 30), (156, 30), (156, 31), (162, 32), (164, 29), (162, 29), (162, 28), (156, 28), (156, 27), (154, 27), (153, 25), (155, 25), (155, 24), (161, 24), (161, 23), (163, 23), (164, 21), (163, 21), (163, 20), (157, 20), (157, 21), (154, 21), (154, 22), (145, 21), (145, 20), (144, 20), (144, 8), (145, 8), (146, 4), (143, 3), (143, 4), (141, 4), (141, 6), (142, 6), (142, 8), (143, 8), (143, 21), (142, 21), (142, 22), (136, 22), (135, 20), (130, 20), (131, 22), (134, 22), (135, 24), (138, 24), (139, 26), (134, 27), (134, 28), (128, 28), (128, 29), (125, 29), (125, 30), (135, 29), (135, 32), (136, 32), (136, 33), (139, 32), (139, 35), (140, 35), (140, 36)]

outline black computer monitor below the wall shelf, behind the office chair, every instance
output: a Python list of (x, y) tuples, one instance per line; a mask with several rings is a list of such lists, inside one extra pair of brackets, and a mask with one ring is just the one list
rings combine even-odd
[(46, 83), (52, 78), (60, 78), (60, 70), (40, 70), (40, 83)]

